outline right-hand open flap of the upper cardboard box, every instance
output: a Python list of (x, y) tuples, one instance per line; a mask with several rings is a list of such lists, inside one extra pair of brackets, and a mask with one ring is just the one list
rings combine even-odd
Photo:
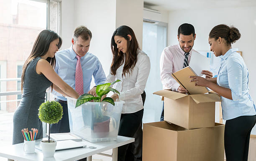
[(221, 102), (220, 97), (215, 93), (189, 95), (196, 103)]

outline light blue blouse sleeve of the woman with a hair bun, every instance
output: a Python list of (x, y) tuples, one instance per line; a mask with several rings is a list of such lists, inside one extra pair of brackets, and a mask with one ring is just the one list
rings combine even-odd
[(228, 86), (232, 99), (239, 101), (242, 97), (243, 65), (236, 59), (230, 59), (227, 63)]

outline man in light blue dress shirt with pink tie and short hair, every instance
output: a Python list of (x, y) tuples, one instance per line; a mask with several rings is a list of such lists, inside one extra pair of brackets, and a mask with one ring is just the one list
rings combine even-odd
[[(103, 71), (100, 60), (89, 53), (90, 41), (92, 33), (85, 26), (79, 26), (74, 30), (72, 38), (72, 46), (68, 49), (61, 50), (56, 53), (56, 66), (55, 72), (72, 88), (75, 89), (75, 71), (77, 65), (77, 55), (81, 56), (81, 66), (83, 73), (83, 91), (96, 96), (96, 86), (90, 89), (92, 75), (95, 84), (105, 83), (106, 76)], [(63, 116), (59, 123), (51, 125), (51, 133), (67, 133), (69, 129), (69, 116), (67, 110), (67, 98), (60, 93), (53, 91), (55, 101), (61, 103), (63, 107)]]

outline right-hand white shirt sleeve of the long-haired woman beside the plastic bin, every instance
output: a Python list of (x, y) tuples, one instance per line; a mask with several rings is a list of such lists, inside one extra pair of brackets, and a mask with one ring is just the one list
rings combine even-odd
[(120, 92), (119, 100), (126, 100), (134, 96), (141, 95), (145, 89), (148, 75), (150, 72), (150, 60), (148, 55), (143, 55), (139, 58), (138, 62), (138, 76), (135, 87)]

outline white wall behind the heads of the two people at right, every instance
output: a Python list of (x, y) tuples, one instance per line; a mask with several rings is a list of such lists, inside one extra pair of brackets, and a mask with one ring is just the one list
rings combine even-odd
[[(241, 38), (232, 45), (243, 52), (243, 59), (249, 71), (250, 94), (256, 103), (255, 39), (256, 7), (219, 8), (207, 10), (177, 10), (169, 12), (169, 45), (177, 44), (177, 30), (182, 23), (191, 23), (197, 34), (194, 49), (210, 50), (208, 36), (210, 30), (219, 24), (234, 25), (241, 33)], [(256, 134), (254, 129), (253, 134)]]

